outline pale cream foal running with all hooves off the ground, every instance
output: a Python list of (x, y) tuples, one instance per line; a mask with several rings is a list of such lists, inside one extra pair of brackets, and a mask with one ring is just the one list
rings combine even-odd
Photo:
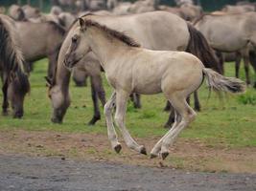
[(105, 104), (105, 119), (108, 138), (112, 148), (119, 153), (121, 144), (117, 139), (112, 121), (112, 109), (116, 106), (115, 122), (130, 149), (147, 154), (128, 133), (125, 125), (128, 96), (132, 93), (153, 95), (163, 93), (175, 109), (175, 123), (151, 150), (151, 158), (165, 159), (178, 134), (195, 117), (196, 112), (188, 105), (186, 98), (200, 87), (203, 76), (210, 89), (230, 93), (242, 93), (244, 82), (238, 78), (225, 77), (204, 67), (191, 53), (151, 51), (143, 49), (128, 35), (111, 30), (96, 21), (79, 19), (69, 41), (64, 65), (73, 68), (86, 53), (93, 52), (105, 70), (108, 83), (114, 89)]

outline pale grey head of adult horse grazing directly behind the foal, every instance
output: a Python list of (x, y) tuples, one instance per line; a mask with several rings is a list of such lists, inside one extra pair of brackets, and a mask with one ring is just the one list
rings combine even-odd
[(53, 114), (51, 117), (52, 122), (61, 123), (67, 108), (70, 105), (70, 98), (64, 96), (61, 88), (48, 77), (45, 77), (48, 86), (48, 96), (52, 101)]

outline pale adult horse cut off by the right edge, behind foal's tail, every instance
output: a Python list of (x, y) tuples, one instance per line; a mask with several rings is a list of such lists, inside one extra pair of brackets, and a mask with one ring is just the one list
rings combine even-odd
[[(246, 83), (249, 78), (249, 44), (256, 46), (256, 12), (243, 14), (203, 15), (195, 23), (198, 31), (217, 51), (241, 53), (244, 57)], [(236, 66), (238, 71), (238, 65)]]

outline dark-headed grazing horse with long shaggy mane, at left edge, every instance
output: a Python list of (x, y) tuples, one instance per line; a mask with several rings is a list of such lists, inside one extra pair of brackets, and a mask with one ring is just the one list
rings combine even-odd
[(12, 19), (0, 15), (0, 74), (3, 82), (3, 115), (8, 114), (11, 101), (13, 117), (23, 116), (24, 97), (30, 91), (28, 76), (24, 73), (24, 58), (18, 45), (17, 29)]

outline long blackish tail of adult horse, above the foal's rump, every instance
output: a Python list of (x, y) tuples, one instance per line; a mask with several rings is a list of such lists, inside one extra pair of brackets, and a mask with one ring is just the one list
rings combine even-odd
[(209, 46), (207, 40), (191, 24), (188, 25), (190, 40), (186, 52), (196, 55), (206, 68), (211, 68), (216, 72), (223, 74), (221, 64), (213, 49)]

